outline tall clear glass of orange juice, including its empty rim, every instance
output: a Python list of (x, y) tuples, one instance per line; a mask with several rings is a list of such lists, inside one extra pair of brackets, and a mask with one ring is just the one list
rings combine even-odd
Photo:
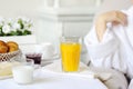
[(61, 37), (60, 43), (62, 70), (66, 72), (78, 71), (81, 53), (80, 37)]

